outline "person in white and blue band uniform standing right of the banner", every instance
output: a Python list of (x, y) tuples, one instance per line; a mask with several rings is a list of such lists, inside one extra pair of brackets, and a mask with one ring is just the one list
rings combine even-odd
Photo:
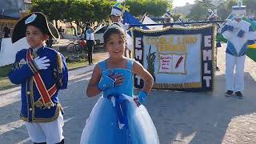
[[(228, 40), (226, 47), (226, 96), (233, 92), (238, 98), (243, 98), (244, 64), (247, 45), (253, 44), (256, 33), (249, 22), (242, 20), (246, 14), (246, 6), (238, 0), (238, 6), (232, 6), (233, 20), (228, 20), (222, 28), (222, 35)], [(235, 68), (235, 74), (234, 74)]]

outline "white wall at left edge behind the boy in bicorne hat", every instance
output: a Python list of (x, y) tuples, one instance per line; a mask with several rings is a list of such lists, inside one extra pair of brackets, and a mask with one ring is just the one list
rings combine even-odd
[(0, 66), (6, 66), (15, 61), (15, 55), (19, 50), (28, 49), (30, 46), (26, 42), (26, 38), (20, 39), (14, 44), (11, 43), (11, 38), (2, 38), (0, 50)]

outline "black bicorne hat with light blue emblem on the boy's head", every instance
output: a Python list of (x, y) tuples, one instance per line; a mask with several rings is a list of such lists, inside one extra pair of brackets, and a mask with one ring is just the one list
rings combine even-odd
[(26, 27), (30, 25), (38, 27), (43, 34), (48, 34), (53, 38), (59, 38), (58, 30), (52, 23), (47, 21), (46, 15), (40, 12), (34, 12), (17, 22), (14, 26), (11, 41), (14, 43), (19, 39), (26, 37)]

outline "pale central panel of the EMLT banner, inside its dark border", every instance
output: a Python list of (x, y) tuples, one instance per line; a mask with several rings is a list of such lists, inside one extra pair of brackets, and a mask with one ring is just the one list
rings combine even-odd
[(201, 34), (145, 36), (143, 63), (148, 67), (155, 53), (155, 83), (201, 83), (201, 40)]

